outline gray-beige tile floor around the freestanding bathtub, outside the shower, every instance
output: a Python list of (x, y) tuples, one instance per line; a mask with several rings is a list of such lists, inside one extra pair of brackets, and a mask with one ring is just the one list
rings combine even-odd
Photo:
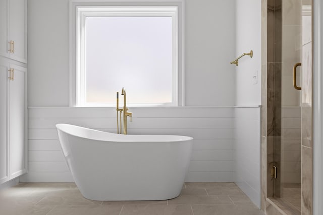
[(165, 201), (92, 201), (74, 183), (22, 183), (0, 193), (1, 215), (262, 215), (234, 183), (185, 183)]

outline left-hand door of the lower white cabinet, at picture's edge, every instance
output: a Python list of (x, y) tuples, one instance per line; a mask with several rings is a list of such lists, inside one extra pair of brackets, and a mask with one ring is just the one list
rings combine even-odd
[(7, 141), (8, 66), (0, 62), (0, 184), (9, 180)]

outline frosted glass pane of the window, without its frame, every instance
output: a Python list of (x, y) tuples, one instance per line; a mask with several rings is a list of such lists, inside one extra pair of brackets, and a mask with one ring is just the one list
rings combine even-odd
[(86, 17), (86, 103), (171, 103), (172, 17)]

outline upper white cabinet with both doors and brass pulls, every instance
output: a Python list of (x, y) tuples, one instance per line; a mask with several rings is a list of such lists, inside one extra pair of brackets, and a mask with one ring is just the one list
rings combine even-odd
[(27, 62), (27, 0), (0, 1), (0, 55)]

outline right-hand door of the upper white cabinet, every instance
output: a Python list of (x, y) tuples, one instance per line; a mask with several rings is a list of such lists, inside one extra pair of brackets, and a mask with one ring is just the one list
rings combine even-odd
[(27, 2), (26, 0), (10, 0), (9, 39), (14, 41), (14, 53), (11, 58), (27, 62)]

